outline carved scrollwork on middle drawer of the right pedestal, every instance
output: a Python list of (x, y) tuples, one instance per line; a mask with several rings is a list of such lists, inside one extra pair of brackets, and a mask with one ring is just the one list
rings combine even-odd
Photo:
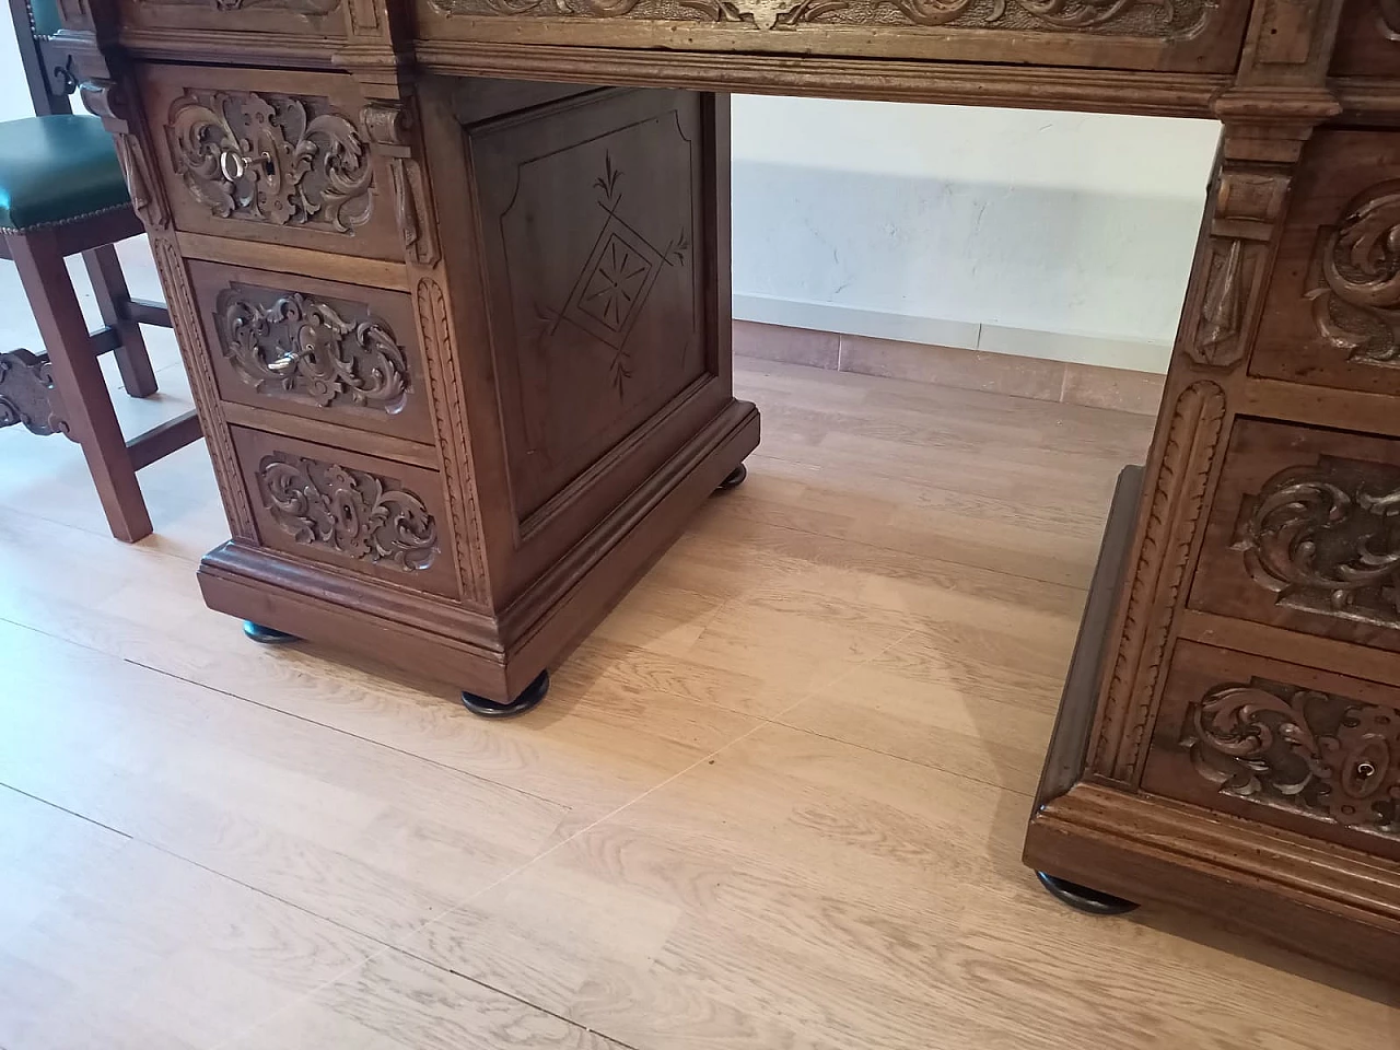
[(1277, 603), (1400, 627), (1400, 470), (1322, 456), (1245, 501), (1233, 550)]

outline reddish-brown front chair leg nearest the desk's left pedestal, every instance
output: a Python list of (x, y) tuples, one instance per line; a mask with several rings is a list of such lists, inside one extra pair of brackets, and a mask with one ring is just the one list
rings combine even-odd
[(35, 230), (7, 234), (6, 244), (43, 335), (69, 435), (83, 447), (112, 535), (127, 543), (148, 536), (146, 500), (57, 241), (52, 231)]

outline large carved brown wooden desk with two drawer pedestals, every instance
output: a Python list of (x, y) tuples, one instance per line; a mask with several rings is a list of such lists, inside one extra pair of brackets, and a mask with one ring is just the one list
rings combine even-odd
[(1396, 973), (1396, 0), (63, 4), (228, 512), (209, 603), (486, 708), (757, 441), (724, 92), (1222, 120), (1026, 858)]

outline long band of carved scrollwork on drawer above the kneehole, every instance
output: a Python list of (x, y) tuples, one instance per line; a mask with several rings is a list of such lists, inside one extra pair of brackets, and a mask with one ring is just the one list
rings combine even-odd
[(433, 0), (447, 15), (640, 18), (735, 22), (756, 29), (802, 25), (1093, 31), (1182, 38), (1197, 32), (1205, 0)]

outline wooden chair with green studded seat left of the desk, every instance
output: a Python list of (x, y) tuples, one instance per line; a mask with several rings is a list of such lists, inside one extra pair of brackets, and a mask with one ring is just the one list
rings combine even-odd
[[(111, 136), (94, 116), (74, 115), (71, 63), (50, 39), (53, 0), (10, 0), (20, 57), (38, 116), (0, 122), (0, 258), (13, 259), (45, 354), (0, 353), (0, 427), (66, 434), (83, 447), (112, 535), (151, 532), (136, 472), (199, 435), (193, 412), (130, 441), (112, 410), (98, 357), (116, 356), (126, 392), (155, 392), (141, 325), (169, 328), (169, 311), (133, 300), (112, 248), (140, 234)], [(64, 258), (83, 255), (104, 326), (88, 332)]]

